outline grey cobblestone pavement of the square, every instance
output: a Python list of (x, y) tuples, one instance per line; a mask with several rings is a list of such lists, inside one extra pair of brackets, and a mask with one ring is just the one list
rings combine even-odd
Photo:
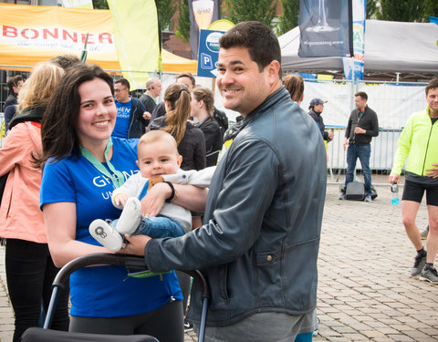
[[(415, 252), (401, 224), (401, 206), (391, 205), (389, 187), (376, 189), (374, 202), (344, 202), (339, 186), (328, 185), (314, 341), (438, 340), (438, 285), (409, 276)], [(417, 223), (427, 225), (424, 203)], [(10, 342), (14, 326), (3, 248), (0, 254), (0, 341)], [(185, 342), (196, 340), (186, 333)]]

